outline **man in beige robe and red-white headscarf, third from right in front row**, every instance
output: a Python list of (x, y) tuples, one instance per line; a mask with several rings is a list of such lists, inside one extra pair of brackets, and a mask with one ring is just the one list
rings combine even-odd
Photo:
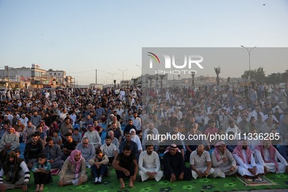
[[(232, 154), (226, 149), (226, 143), (219, 141), (215, 144), (212, 152), (212, 166), (214, 168), (213, 177), (236, 176), (238, 167)], [(231, 162), (231, 164), (230, 164)]]

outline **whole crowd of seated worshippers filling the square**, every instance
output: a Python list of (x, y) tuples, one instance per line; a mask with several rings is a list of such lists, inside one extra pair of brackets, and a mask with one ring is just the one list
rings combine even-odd
[[(86, 168), (101, 184), (112, 166), (121, 189), (124, 177), (134, 187), (137, 173), (138, 181), (164, 175), (171, 182), (288, 173), (287, 95), (275, 87), (270, 100), (261, 84), (255, 90), (213, 85), (7, 92), (0, 106), (1, 191), (27, 190), (29, 170), (36, 192), (52, 182), (50, 169), (61, 169), (58, 185), (64, 186), (86, 182)], [(164, 134), (185, 139), (151, 139)], [(187, 139), (196, 134), (229, 136)], [(260, 134), (269, 136), (260, 140)]]

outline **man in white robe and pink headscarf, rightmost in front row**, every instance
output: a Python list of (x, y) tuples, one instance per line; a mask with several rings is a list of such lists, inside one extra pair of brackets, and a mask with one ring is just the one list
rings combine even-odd
[[(271, 140), (263, 139), (255, 147), (255, 156), (265, 173), (288, 173), (288, 163), (285, 158), (271, 145)], [(281, 161), (278, 163), (277, 158)]]

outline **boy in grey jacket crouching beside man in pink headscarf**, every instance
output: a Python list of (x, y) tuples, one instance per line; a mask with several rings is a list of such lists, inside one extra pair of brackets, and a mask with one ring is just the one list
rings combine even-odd
[(91, 165), (91, 171), (95, 178), (94, 184), (101, 184), (102, 177), (110, 175), (109, 168), (107, 167), (109, 159), (106, 154), (102, 153), (102, 150), (96, 149), (96, 155), (88, 163)]

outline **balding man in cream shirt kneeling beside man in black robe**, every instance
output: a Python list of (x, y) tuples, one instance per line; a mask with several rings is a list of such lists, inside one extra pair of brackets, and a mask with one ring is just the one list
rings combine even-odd
[(213, 177), (214, 169), (211, 168), (210, 154), (204, 150), (204, 145), (198, 145), (197, 149), (191, 153), (190, 167), (194, 179), (204, 176)]

